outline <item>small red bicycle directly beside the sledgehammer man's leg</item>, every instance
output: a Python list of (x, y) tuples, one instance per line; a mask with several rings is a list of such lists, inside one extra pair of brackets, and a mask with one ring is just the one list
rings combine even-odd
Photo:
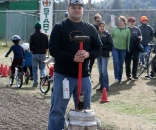
[[(49, 65), (47, 64), (47, 68), (49, 70), (49, 74), (46, 75), (45, 77), (40, 78), (40, 91), (42, 93), (45, 93), (45, 94), (49, 91), (50, 84), (53, 82), (52, 78), (53, 78), (53, 69), (54, 69), (54, 67), (53, 66), (49, 67)], [(53, 91), (53, 89), (52, 89), (52, 91)]]

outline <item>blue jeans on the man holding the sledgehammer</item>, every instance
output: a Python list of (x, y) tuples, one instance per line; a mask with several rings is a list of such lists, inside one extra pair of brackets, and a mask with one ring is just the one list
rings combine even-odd
[[(64, 128), (64, 116), (70, 99), (63, 99), (62, 81), (69, 80), (70, 97), (73, 94), (74, 105), (77, 107), (77, 78), (68, 77), (54, 73), (53, 93), (51, 96), (51, 108), (48, 120), (48, 130), (62, 130)], [(90, 108), (91, 102), (91, 80), (90, 77), (82, 78), (82, 92), (85, 91), (84, 109)]]

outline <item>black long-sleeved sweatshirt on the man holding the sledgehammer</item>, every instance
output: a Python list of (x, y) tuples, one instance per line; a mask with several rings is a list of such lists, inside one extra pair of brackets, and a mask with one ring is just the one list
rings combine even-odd
[[(53, 27), (49, 51), (50, 55), (55, 58), (54, 72), (77, 78), (79, 63), (74, 61), (74, 56), (79, 50), (79, 43), (74, 42), (74, 36), (90, 37), (90, 40), (83, 44), (83, 49), (89, 52), (89, 58), (100, 56), (101, 40), (93, 25), (84, 21), (74, 23), (67, 18)], [(82, 63), (82, 77), (90, 75), (89, 58)]]

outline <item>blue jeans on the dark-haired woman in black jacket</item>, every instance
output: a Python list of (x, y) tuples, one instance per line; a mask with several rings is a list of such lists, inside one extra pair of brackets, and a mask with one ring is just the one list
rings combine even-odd
[(109, 78), (107, 72), (109, 57), (98, 57), (97, 58), (97, 65), (100, 74), (100, 88), (103, 89), (104, 87), (108, 90), (109, 89)]

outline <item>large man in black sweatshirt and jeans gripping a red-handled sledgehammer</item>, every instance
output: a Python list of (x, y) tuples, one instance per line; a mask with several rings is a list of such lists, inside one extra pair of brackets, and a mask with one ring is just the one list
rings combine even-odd
[[(63, 99), (62, 81), (69, 80), (70, 97), (73, 95), (77, 106), (78, 64), (82, 62), (82, 92), (85, 91), (84, 109), (90, 108), (91, 81), (89, 58), (96, 58), (101, 53), (101, 41), (93, 25), (82, 20), (84, 3), (71, 0), (68, 6), (68, 18), (58, 22), (52, 30), (49, 43), (50, 55), (55, 58), (53, 94), (49, 113), (48, 130), (62, 130), (64, 116), (70, 99)], [(89, 36), (83, 50), (75, 43), (74, 36)]]

